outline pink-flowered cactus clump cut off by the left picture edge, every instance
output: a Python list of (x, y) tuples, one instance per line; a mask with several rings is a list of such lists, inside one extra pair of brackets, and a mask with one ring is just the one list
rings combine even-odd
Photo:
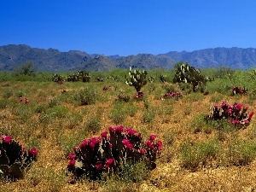
[(3, 135), (0, 143), (0, 175), (9, 178), (24, 177), (37, 156), (37, 148), (26, 149), (11, 137)]

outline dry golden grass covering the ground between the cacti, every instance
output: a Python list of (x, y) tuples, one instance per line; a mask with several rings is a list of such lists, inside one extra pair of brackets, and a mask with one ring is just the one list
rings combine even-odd
[[(144, 101), (131, 99), (130, 102), (122, 104), (124, 109), (127, 109), (131, 103), (136, 108), (135, 113), (125, 116), (122, 125), (142, 131), (144, 137), (155, 133), (164, 142), (164, 150), (157, 160), (157, 168), (150, 172), (143, 183), (124, 184), (116, 180), (109, 180), (108, 183), (89, 183), (86, 180), (72, 183), (65, 171), (68, 148), (72, 151), (73, 145), (78, 145), (82, 139), (98, 136), (101, 131), (107, 130), (108, 126), (114, 126), (109, 114), (113, 111), (119, 89), (125, 90), (131, 97), (135, 93), (132, 87), (121, 83), (115, 83), (115, 89), (105, 91), (102, 87), (109, 83), (89, 84), (96, 88), (99, 97), (95, 104), (84, 106), (75, 102), (73, 96), (88, 84), (53, 82), (1, 84), (0, 89), (3, 94), (0, 95), (0, 99), (6, 101), (4, 103), (7, 103), (7, 106), (0, 108), (0, 134), (9, 134), (20, 143), (36, 146), (39, 149), (38, 161), (26, 173), (26, 177), (16, 182), (0, 182), (1, 192), (253, 191), (256, 189), (254, 181), (256, 161), (253, 154), (256, 148), (253, 143), (256, 139), (254, 119), (246, 129), (218, 131), (204, 125), (200, 116), (209, 114), (212, 106), (220, 103), (221, 97), (230, 103), (241, 102), (245, 105), (249, 103), (249, 111), (256, 108), (255, 102), (248, 101), (247, 96), (231, 97), (219, 93), (207, 96), (190, 94), (178, 101), (161, 101), (159, 91), (165, 92), (165, 90), (162, 90), (161, 84), (157, 83), (155, 83), (156, 88), (145, 96), (149, 103), (148, 111), (155, 114), (150, 122), (145, 122), (143, 119), (143, 113), (147, 113)], [(143, 90), (147, 90), (147, 86)], [(63, 90), (67, 91), (63, 93)], [(20, 91), (29, 98), (29, 105), (19, 102)], [(43, 111), (37, 113), (38, 107)], [(129, 108), (127, 110), (129, 111)], [(101, 124), (90, 131), (86, 126), (90, 127), (88, 122), (92, 118), (98, 118)], [(196, 146), (198, 143), (210, 140), (218, 142), (220, 148), (214, 158), (200, 161), (195, 169), (183, 166), (181, 158), (183, 143), (189, 141), (191, 146)], [(251, 142), (252, 151), (247, 153), (251, 155), (251, 160), (244, 165), (234, 165), (228, 156), (229, 146), (234, 141)], [(241, 158), (241, 156), (237, 157), (237, 154), (230, 155), (232, 160)]]

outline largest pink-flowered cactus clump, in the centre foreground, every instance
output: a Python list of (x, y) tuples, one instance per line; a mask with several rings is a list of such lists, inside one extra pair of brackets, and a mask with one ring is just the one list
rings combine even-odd
[(85, 139), (69, 154), (67, 170), (75, 177), (101, 179), (102, 173), (119, 174), (121, 165), (143, 161), (148, 169), (156, 167), (155, 160), (162, 150), (162, 142), (151, 135), (143, 142), (142, 134), (122, 125), (109, 127), (101, 137)]

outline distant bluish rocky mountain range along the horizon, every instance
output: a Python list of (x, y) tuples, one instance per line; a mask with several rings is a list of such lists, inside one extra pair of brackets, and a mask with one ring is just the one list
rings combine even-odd
[(249, 69), (256, 67), (256, 49), (214, 48), (192, 52), (171, 51), (166, 54), (89, 55), (79, 50), (61, 52), (57, 49), (38, 49), (28, 45), (9, 44), (0, 46), (0, 71), (13, 71), (20, 64), (33, 61), (41, 72), (108, 71), (114, 68), (166, 68), (171, 69), (177, 61), (187, 61), (196, 68), (230, 67)]

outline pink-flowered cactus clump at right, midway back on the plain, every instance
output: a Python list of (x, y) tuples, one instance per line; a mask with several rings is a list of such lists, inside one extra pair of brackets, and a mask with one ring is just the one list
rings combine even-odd
[(249, 125), (254, 112), (247, 115), (248, 107), (242, 107), (241, 103), (234, 103), (230, 105), (227, 102), (222, 102), (220, 108), (218, 105), (213, 107), (212, 115), (207, 115), (206, 119), (219, 120), (228, 119), (229, 122), (238, 128)]

